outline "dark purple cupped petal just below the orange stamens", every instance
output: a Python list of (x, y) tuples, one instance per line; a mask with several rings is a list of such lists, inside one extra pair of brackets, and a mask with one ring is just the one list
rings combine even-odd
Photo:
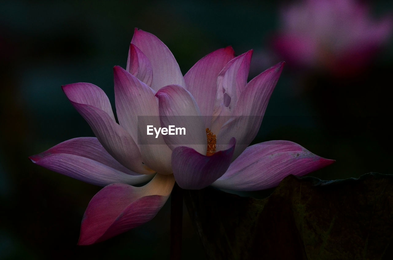
[(230, 148), (212, 156), (205, 156), (193, 148), (179, 146), (172, 152), (172, 168), (176, 182), (183, 189), (203, 189), (220, 178), (228, 169), (236, 140), (231, 139)]

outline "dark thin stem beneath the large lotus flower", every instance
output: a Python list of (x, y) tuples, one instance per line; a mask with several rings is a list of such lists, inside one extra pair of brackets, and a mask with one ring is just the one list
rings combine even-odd
[(174, 184), (171, 193), (171, 260), (182, 258), (183, 189)]

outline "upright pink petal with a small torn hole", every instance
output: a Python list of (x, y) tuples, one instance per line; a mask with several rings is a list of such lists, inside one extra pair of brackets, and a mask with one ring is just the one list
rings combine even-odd
[(228, 120), (227, 116), (232, 114), (237, 99), (247, 84), (252, 53), (253, 51), (250, 50), (232, 59), (217, 77), (217, 94), (211, 128), (213, 133), (218, 133)]

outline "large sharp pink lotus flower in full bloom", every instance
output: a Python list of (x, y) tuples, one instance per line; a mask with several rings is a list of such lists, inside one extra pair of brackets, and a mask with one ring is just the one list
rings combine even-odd
[[(105, 186), (84, 213), (80, 245), (106, 240), (151, 220), (175, 181), (184, 189), (212, 185), (261, 190), (275, 187), (289, 174), (302, 176), (333, 162), (290, 141), (247, 147), (259, 130), (284, 64), (247, 83), (251, 56), (252, 51), (235, 57), (231, 47), (219, 49), (183, 77), (167, 46), (136, 29), (127, 69), (114, 67), (119, 124), (108, 97), (97, 86), (62, 87), (97, 138), (71, 139), (30, 159)], [(138, 137), (138, 131), (146, 128), (141, 130), (137, 124), (141, 115), (149, 116), (139, 117), (147, 120), (142, 125), (182, 125), (192, 134), (188, 140), (160, 135), (158, 144), (143, 142), (146, 135)], [(131, 186), (149, 180), (142, 187)]]

